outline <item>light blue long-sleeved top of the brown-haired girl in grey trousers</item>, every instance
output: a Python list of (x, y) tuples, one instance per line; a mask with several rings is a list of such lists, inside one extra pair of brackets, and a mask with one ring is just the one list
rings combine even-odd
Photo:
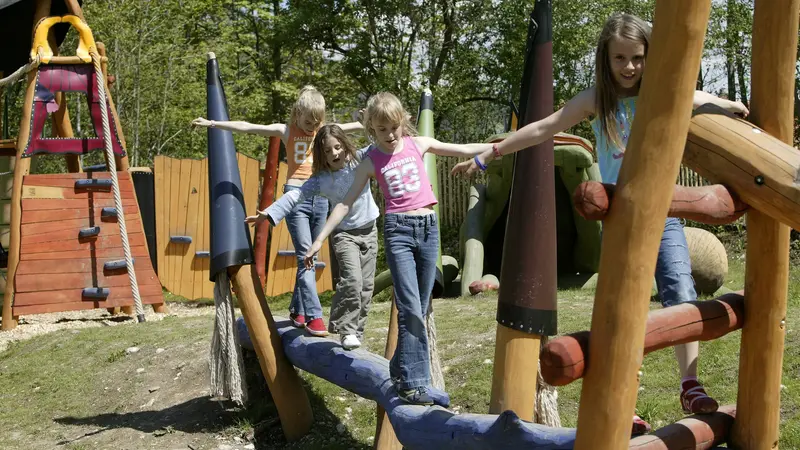
[[(358, 167), (359, 161), (363, 159), (367, 150), (369, 150), (369, 147), (356, 152), (358, 161), (350, 161), (341, 170), (316, 173), (303, 183), (300, 189), (293, 189), (283, 194), (278, 201), (270, 205), (265, 211), (270, 223), (274, 226), (283, 220), (287, 214), (291, 213), (295, 206), (306, 199), (313, 198), (315, 195), (327, 198), (334, 206), (341, 203), (353, 184), (356, 167)], [(344, 231), (363, 228), (374, 222), (379, 214), (378, 205), (375, 204), (369, 183), (367, 183), (361, 194), (356, 198), (356, 201), (353, 202), (350, 212), (347, 213), (336, 229)]]

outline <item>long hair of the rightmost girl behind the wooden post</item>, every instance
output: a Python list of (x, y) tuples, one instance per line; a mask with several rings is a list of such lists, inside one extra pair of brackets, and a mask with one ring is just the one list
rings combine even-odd
[[(597, 53), (595, 53), (595, 111), (606, 135), (612, 142), (622, 147), (619, 126), (616, 120), (617, 100), (620, 93), (617, 82), (614, 80), (608, 54), (608, 44), (615, 37), (644, 45), (644, 56), (647, 58), (647, 49), (650, 47), (650, 25), (630, 14), (614, 14), (606, 20), (597, 42)], [(637, 91), (641, 82), (640, 79), (639, 85), (636, 86)]]

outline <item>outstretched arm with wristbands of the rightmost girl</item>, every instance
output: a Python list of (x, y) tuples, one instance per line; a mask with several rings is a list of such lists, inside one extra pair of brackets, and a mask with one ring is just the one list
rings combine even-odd
[[(497, 152), (502, 156), (533, 147), (552, 138), (558, 132), (572, 128), (593, 113), (594, 88), (592, 87), (572, 97), (563, 108), (553, 114), (538, 122), (529, 123), (514, 132), (503, 142), (497, 144)], [(463, 172), (466, 175), (472, 175), (476, 171), (482, 170), (478, 162), (485, 167), (495, 157), (497, 155), (494, 154), (494, 149), (490, 147), (488, 151), (477, 155), (474, 159), (457, 164), (453, 167), (452, 173)], [(478, 161), (475, 161), (475, 159)]]

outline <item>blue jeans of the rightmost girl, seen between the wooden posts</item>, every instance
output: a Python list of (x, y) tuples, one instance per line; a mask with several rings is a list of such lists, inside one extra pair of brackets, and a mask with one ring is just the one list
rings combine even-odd
[(656, 286), (661, 304), (666, 308), (697, 300), (692, 278), (692, 263), (683, 225), (679, 219), (668, 217), (661, 235), (656, 260)]

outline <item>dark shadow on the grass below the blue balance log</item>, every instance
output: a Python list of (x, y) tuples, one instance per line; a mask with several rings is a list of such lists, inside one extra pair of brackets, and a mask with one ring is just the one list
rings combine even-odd
[(238, 408), (228, 401), (196, 397), (160, 411), (104, 413), (88, 417), (57, 417), (53, 420), (61, 425), (94, 428), (77, 438), (61, 441), (58, 445), (67, 445), (105, 431), (121, 428), (154, 434), (180, 431), (187, 434), (244, 435), (246, 429), (249, 428), (247, 425), (250, 424), (256, 449), (367, 450), (371, 448), (356, 440), (349, 432), (338, 432), (336, 426), (341, 423), (341, 420), (325, 407), (323, 398), (317, 395), (305, 381), (303, 384), (314, 411), (314, 424), (311, 431), (299, 441), (286, 442), (278, 419), (278, 411), (261, 374), (258, 359), (254, 352), (248, 350), (244, 350), (243, 356), (249, 396), (245, 409)]

